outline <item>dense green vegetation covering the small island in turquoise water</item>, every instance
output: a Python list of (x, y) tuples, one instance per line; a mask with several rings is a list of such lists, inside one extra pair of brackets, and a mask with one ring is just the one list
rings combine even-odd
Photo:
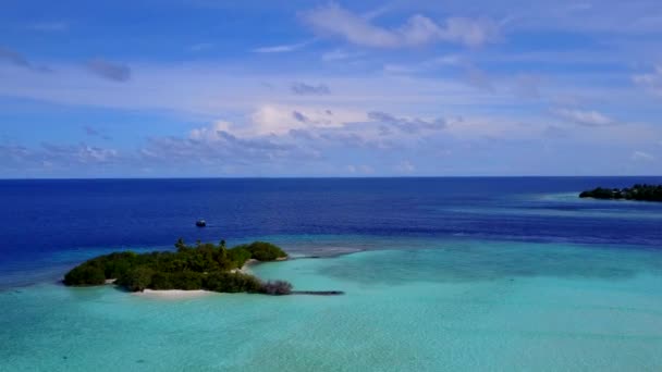
[(109, 280), (126, 290), (144, 289), (206, 289), (223, 293), (258, 293), (289, 295), (287, 282), (261, 282), (254, 275), (241, 272), (248, 260), (277, 261), (287, 255), (278, 246), (265, 241), (225, 248), (197, 243), (187, 246), (181, 238), (176, 251), (135, 253), (113, 252), (90, 259), (64, 275), (64, 284), (72, 286), (101, 285)]

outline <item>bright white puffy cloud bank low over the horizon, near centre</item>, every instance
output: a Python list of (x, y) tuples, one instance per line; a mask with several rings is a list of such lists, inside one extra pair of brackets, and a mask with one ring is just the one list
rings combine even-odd
[[(415, 146), (424, 134), (432, 135), (445, 129), (443, 119), (419, 119), (394, 116), (384, 112), (336, 111), (312, 107), (284, 107), (266, 104), (253, 112), (245, 125), (217, 121), (212, 125), (195, 128), (185, 139), (220, 144), (229, 140), (267, 140), (269, 146), (305, 147), (315, 152), (321, 147), (347, 149), (389, 149), (395, 146)], [(167, 139), (163, 139), (167, 140)], [(169, 140), (169, 139), (168, 139)], [(177, 146), (181, 142), (177, 144)], [(188, 150), (187, 150), (188, 151)], [(354, 165), (355, 172), (369, 173), (365, 166)], [(403, 169), (406, 169), (403, 168)]]

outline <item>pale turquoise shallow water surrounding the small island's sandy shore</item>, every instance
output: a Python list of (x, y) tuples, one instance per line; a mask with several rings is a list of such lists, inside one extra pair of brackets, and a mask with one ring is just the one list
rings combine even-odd
[[(320, 237), (319, 250), (368, 250), (253, 268), (343, 296), (167, 300), (54, 284), (1, 292), (0, 370), (662, 369), (654, 250), (343, 239)], [(306, 256), (315, 240), (285, 248)]]

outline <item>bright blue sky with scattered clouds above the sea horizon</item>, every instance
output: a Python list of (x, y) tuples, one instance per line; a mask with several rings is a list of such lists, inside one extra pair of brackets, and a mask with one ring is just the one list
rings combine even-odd
[(0, 178), (662, 174), (662, 2), (0, 2)]

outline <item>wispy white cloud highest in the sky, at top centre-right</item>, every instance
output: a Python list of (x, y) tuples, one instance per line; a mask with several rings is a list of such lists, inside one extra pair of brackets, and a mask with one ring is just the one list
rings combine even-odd
[(413, 47), (434, 42), (455, 42), (478, 47), (498, 38), (499, 28), (488, 18), (451, 17), (438, 24), (420, 14), (403, 25), (384, 28), (371, 24), (335, 3), (302, 13), (304, 21), (321, 36), (335, 36), (373, 48)]

